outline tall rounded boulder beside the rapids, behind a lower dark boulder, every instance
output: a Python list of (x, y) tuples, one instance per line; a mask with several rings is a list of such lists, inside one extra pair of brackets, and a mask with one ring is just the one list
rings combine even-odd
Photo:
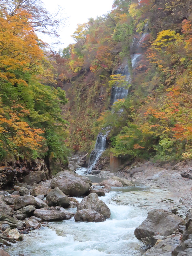
[(98, 195), (95, 193), (89, 194), (80, 202), (77, 207), (77, 211), (83, 209), (99, 212), (105, 219), (110, 218), (110, 209), (102, 200), (99, 200)]

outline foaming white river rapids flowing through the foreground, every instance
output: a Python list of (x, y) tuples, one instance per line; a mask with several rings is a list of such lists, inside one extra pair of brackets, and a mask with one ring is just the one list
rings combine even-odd
[[(146, 212), (111, 200), (119, 192), (100, 197), (111, 210), (111, 218), (101, 223), (75, 222), (74, 218), (49, 223), (49, 227), (24, 235), (7, 252), (11, 256), (139, 256), (143, 246), (134, 229), (146, 218)], [(79, 201), (81, 199), (79, 198)]]

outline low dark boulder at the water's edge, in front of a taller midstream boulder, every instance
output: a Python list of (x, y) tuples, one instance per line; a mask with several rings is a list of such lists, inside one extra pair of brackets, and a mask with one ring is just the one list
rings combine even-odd
[(103, 222), (105, 218), (99, 212), (83, 209), (75, 213), (75, 221)]

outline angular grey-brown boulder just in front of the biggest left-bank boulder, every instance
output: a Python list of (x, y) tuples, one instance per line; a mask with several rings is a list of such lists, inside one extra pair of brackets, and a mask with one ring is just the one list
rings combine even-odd
[(54, 188), (46, 196), (49, 206), (61, 206), (63, 208), (69, 206), (69, 198), (58, 187)]

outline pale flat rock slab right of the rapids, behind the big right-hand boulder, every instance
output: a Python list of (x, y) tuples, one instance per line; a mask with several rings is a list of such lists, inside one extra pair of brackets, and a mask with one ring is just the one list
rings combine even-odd
[(164, 189), (150, 189), (142, 191), (129, 191), (112, 198), (123, 205), (133, 205), (143, 209), (170, 209), (179, 202), (179, 197)]

